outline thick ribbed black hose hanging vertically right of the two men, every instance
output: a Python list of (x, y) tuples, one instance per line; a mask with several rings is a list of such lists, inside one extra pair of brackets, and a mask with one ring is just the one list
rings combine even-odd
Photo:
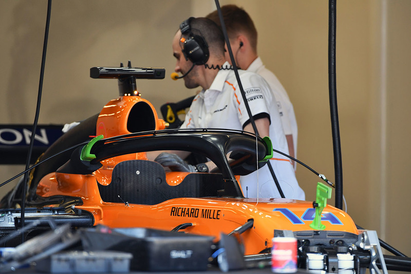
[(328, 89), (332, 144), (334, 152), (335, 207), (343, 209), (343, 168), (341, 159), (340, 126), (337, 107), (337, 76), (335, 65), (335, 33), (337, 29), (337, 0), (328, 2)]

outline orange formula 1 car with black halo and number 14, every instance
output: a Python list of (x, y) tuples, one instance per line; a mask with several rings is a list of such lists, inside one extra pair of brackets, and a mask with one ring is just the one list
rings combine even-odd
[[(347, 213), (327, 205), (327, 187), (319, 188), (314, 206), (301, 200), (245, 197), (238, 175), (254, 172), (272, 157), (269, 139), (239, 131), (164, 130), (166, 124), (153, 105), (138, 92), (127, 92), (135, 90), (136, 75), (147, 77), (141, 76), (142, 69), (134, 69), (135, 74), (130, 70), (130, 65), (91, 69), (94, 78), (119, 79), (120, 97), (64, 134), (41, 157), (69, 148), (32, 172), (27, 204), (36, 209), (28, 211), (26, 225), (48, 215), (77, 228), (180, 231), (212, 236), (216, 244), (222, 234), (236, 233), (246, 259), (269, 257), (272, 238), (291, 235), (298, 241), (301, 268), (338, 272), (344, 261), (349, 273), (378, 271), (379, 258), (384, 269), (375, 231), (357, 229)], [(161, 69), (149, 70), (144, 73), (150, 77), (163, 74)], [(90, 136), (98, 137), (88, 142)], [(218, 168), (210, 173), (166, 171), (146, 158), (147, 151), (160, 150), (197, 153)], [(2, 201), (3, 228), (21, 225), (18, 210), (10, 210), (15, 192)]]

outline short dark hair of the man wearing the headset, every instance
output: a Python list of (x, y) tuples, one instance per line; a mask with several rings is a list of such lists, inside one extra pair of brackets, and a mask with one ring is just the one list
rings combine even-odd
[(221, 28), (215, 22), (205, 17), (197, 17), (191, 19), (190, 26), (193, 34), (204, 38), (209, 46), (210, 54), (214, 54), (217, 58), (224, 57), (226, 42)]

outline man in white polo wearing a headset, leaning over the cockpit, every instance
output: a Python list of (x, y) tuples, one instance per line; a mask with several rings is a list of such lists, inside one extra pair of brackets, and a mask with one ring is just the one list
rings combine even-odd
[[(173, 55), (177, 59), (175, 71), (183, 74), (179, 78), (184, 79), (185, 86), (202, 87), (181, 129), (207, 127), (254, 132), (234, 71), (226, 61), (224, 36), (218, 25), (202, 17), (190, 17), (181, 23), (173, 39)], [(287, 140), (270, 86), (254, 72), (239, 70), (238, 73), (259, 135), (270, 136), (273, 148), (288, 153)], [(178, 155), (185, 158), (187, 154), (179, 152)], [(152, 154), (147, 156), (154, 159)], [(163, 166), (181, 166), (181, 162), (170, 157), (170, 154), (162, 153), (156, 161)], [(298, 186), (290, 160), (274, 153), (269, 162), (285, 197), (303, 200), (305, 194)], [(203, 172), (212, 168), (212, 162), (201, 166)], [(257, 197), (257, 194), (258, 197), (280, 197), (267, 165), (241, 176), (240, 184), (246, 197)]]

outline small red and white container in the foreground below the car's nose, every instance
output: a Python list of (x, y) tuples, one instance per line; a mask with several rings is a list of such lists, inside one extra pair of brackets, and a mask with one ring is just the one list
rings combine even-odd
[(271, 270), (275, 273), (297, 271), (297, 239), (274, 237), (271, 248)]

